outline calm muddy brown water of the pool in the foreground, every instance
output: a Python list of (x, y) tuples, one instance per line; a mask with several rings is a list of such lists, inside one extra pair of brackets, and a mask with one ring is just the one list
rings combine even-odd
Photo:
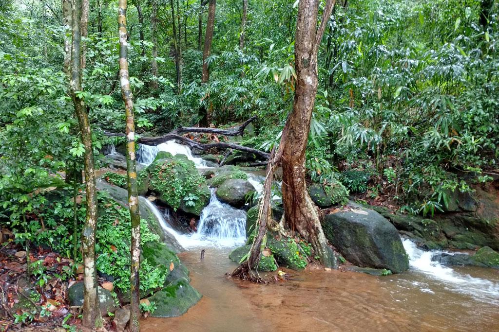
[[(179, 254), (201, 301), (176, 318), (148, 318), (141, 331), (499, 331), (498, 301), (449, 290), (418, 271), (375, 277), (348, 271), (292, 272), (294, 281), (255, 285), (227, 278), (229, 248)], [(456, 268), (499, 282), (499, 271)], [(465, 287), (465, 286), (464, 286)]]

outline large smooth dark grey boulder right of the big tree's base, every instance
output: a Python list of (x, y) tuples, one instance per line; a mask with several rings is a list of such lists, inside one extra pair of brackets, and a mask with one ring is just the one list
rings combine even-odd
[(347, 209), (327, 215), (323, 228), (328, 240), (355, 265), (394, 273), (409, 268), (397, 229), (373, 210), (350, 203)]

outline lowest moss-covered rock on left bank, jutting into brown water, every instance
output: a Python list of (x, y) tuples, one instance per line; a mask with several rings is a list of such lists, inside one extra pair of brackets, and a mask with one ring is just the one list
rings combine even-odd
[(151, 316), (184, 315), (189, 308), (201, 300), (201, 297), (201, 294), (189, 284), (187, 279), (176, 280), (149, 298), (149, 301), (154, 302), (157, 307)]

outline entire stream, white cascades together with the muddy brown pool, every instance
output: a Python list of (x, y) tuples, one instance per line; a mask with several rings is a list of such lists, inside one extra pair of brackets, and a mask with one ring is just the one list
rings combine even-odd
[[(140, 146), (138, 161), (150, 164), (160, 150), (186, 154), (204, 167), (201, 158), (173, 141)], [(250, 180), (261, 190), (260, 177)], [(237, 266), (229, 253), (245, 242), (244, 211), (218, 201), (212, 190), (197, 232), (181, 234), (169, 224), (168, 212), (144, 201), (186, 249), (178, 256), (203, 298), (181, 317), (142, 320), (143, 331), (499, 330), (498, 270), (444, 266), (432, 260), (441, 251), (423, 251), (404, 239), (410, 269), (402, 274), (375, 277), (307, 267), (288, 270), (291, 281), (255, 285), (226, 276)]]

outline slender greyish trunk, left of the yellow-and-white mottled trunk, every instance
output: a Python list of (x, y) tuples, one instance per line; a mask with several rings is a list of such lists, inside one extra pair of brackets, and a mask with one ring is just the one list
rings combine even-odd
[(81, 141), (85, 146), (85, 193), (86, 218), (82, 231), (83, 243), (83, 326), (95, 329), (102, 326), (97, 294), (97, 273), (95, 267), (95, 229), (97, 227), (97, 188), (95, 186), (94, 156), (92, 132), (85, 102), (77, 95), (81, 87), (81, 12), (82, 1), (73, 0), (72, 42), (71, 42), (71, 78), (69, 82), (74, 110), (78, 118)]

